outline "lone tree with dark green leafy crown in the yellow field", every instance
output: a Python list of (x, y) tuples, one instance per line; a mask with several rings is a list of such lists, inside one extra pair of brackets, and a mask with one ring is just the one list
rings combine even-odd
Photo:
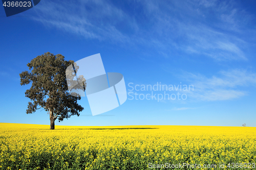
[[(45, 53), (44, 55), (37, 56), (27, 64), (29, 71), (23, 71), (20, 76), (20, 85), (30, 84), (31, 88), (26, 90), (26, 97), (31, 100), (28, 103), (27, 114), (34, 113), (36, 110), (43, 108), (50, 114), (50, 129), (55, 129), (55, 120), (62, 121), (64, 118), (70, 118), (72, 115), (79, 116), (79, 112), (83, 107), (77, 104), (81, 96), (71, 95), (69, 93), (66, 69), (69, 65), (73, 64), (73, 68), (77, 70), (79, 66), (75, 65), (74, 61), (65, 61), (64, 56), (58, 54)], [(73, 72), (69, 72), (69, 77), (76, 77)], [(79, 77), (78, 79), (83, 79)], [(72, 81), (69, 81), (72, 83)], [(74, 80), (73, 83), (77, 83)], [(83, 87), (84, 84), (76, 86), (76, 88)], [(33, 103), (32, 103), (33, 102)], [(40, 106), (38, 108), (38, 106)]]

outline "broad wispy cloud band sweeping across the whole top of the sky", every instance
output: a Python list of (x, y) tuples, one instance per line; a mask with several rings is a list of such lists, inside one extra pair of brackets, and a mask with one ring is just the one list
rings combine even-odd
[(250, 17), (232, 1), (42, 1), (36, 12), (33, 19), (45, 26), (89, 39), (154, 47), (165, 58), (178, 50), (219, 61), (247, 60), (240, 25), (246, 24), (243, 16)]

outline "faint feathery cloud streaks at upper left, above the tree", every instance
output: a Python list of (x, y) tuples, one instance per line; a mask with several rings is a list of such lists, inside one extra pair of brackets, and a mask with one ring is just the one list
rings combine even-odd
[(129, 37), (113, 24), (124, 20), (125, 14), (105, 1), (43, 1), (40, 4), (37, 15), (32, 18), (47, 27), (55, 27), (84, 38), (129, 41)]

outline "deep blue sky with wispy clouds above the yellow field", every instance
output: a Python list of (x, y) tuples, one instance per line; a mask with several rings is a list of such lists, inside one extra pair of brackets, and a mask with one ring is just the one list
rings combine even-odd
[[(0, 122), (49, 125), (46, 111), (26, 114), (30, 101), (19, 73), (46, 52), (77, 61), (100, 53), (106, 72), (120, 72), (127, 92), (186, 100), (127, 100), (92, 116), (55, 125), (198, 125), (256, 127), (256, 2), (46, 1), (6, 17), (0, 8)], [(193, 85), (194, 90), (136, 91), (135, 85)], [(133, 83), (133, 84), (132, 84)], [(153, 95), (154, 95), (153, 94)], [(152, 98), (150, 98), (152, 99)]]

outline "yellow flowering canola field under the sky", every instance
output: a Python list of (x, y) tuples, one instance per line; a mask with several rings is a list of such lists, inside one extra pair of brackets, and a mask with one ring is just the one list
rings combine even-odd
[(0, 123), (0, 169), (256, 169), (256, 128)]

